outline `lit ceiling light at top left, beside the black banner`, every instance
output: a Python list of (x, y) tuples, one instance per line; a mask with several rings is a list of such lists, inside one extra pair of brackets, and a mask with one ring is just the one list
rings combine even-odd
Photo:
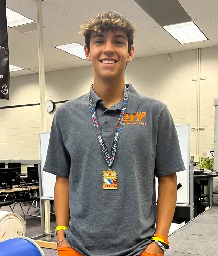
[(7, 7), (6, 7), (6, 16), (7, 16), (7, 26), (10, 28), (34, 22), (34, 20), (28, 19), (25, 16), (17, 12), (14, 12)]

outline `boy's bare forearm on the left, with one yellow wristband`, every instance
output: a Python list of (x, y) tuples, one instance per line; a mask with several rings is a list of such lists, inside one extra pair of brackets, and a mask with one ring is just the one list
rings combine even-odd
[[(55, 217), (57, 226), (68, 226), (69, 209), (69, 179), (57, 177), (54, 191)], [(57, 241), (65, 238), (64, 230), (57, 231)]]

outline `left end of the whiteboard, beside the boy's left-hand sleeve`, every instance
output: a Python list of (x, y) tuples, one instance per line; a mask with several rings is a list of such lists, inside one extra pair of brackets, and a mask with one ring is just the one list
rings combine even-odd
[(49, 146), (49, 138), (50, 132), (39, 133), (41, 157), (41, 184), (43, 192), (41, 197), (51, 197), (52, 200), (54, 199), (56, 175), (43, 171)]

